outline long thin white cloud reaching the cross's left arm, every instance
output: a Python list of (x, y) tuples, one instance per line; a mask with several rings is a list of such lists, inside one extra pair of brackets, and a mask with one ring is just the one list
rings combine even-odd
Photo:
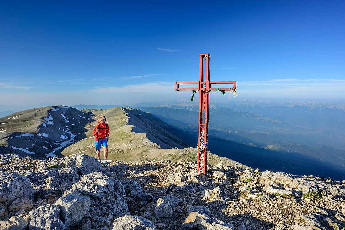
[[(154, 89), (154, 90), (152, 90)], [(150, 82), (142, 84), (129, 84), (121, 87), (95, 88), (85, 91), (84, 93), (165, 93), (174, 91), (174, 84), (171, 82)]]

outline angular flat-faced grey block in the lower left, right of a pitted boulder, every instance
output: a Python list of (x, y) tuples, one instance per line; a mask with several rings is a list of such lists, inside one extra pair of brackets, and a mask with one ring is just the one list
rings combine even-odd
[(60, 197), (55, 204), (60, 208), (60, 219), (66, 228), (76, 225), (89, 211), (90, 198), (68, 193)]

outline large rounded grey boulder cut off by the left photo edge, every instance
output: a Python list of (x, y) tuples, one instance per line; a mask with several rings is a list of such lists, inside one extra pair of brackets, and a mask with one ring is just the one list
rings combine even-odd
[(0, 171), (0, 203), (8, 207), (17, 198), (33, 198), (30, 180), (16, 172)]

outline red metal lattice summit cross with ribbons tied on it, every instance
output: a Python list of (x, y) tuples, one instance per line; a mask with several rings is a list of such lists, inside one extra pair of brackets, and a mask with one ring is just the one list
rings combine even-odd
[[(204, 58), (206, 62), (204, 80)], [(180, 88), (181, 84), (197, 84), (197, 88)], [(211, 84), (234, 84), (229, 89), (211, 88)], [(208, 136), (208, 99), (211, 90), (219, 90), (223, 93), (226, 90), (233, 91), (236, 96), (236, 81), (210, 81), (210, 54), (200, 54), (200, 80), (190, 82), (175, 82), (175, 90), (193, 90), (193, 96), (199, 91), (199, 128), (198, 128), (198, 172), (206, 174), (207, 171), (207, 136)], [(192, 99), (193, 100), (193, 96)], [(230, 98), (229, 98), (230, 99)], [(203, 114), (205, 120), (203, 123)]]

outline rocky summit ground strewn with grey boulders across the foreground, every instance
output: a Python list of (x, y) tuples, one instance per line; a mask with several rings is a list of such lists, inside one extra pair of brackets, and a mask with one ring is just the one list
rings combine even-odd
[[(342, 229), (345, 181), (222, 163), (0, 154), (0, 229)], [(344, 228), (345, 229), (345, 228)]]

